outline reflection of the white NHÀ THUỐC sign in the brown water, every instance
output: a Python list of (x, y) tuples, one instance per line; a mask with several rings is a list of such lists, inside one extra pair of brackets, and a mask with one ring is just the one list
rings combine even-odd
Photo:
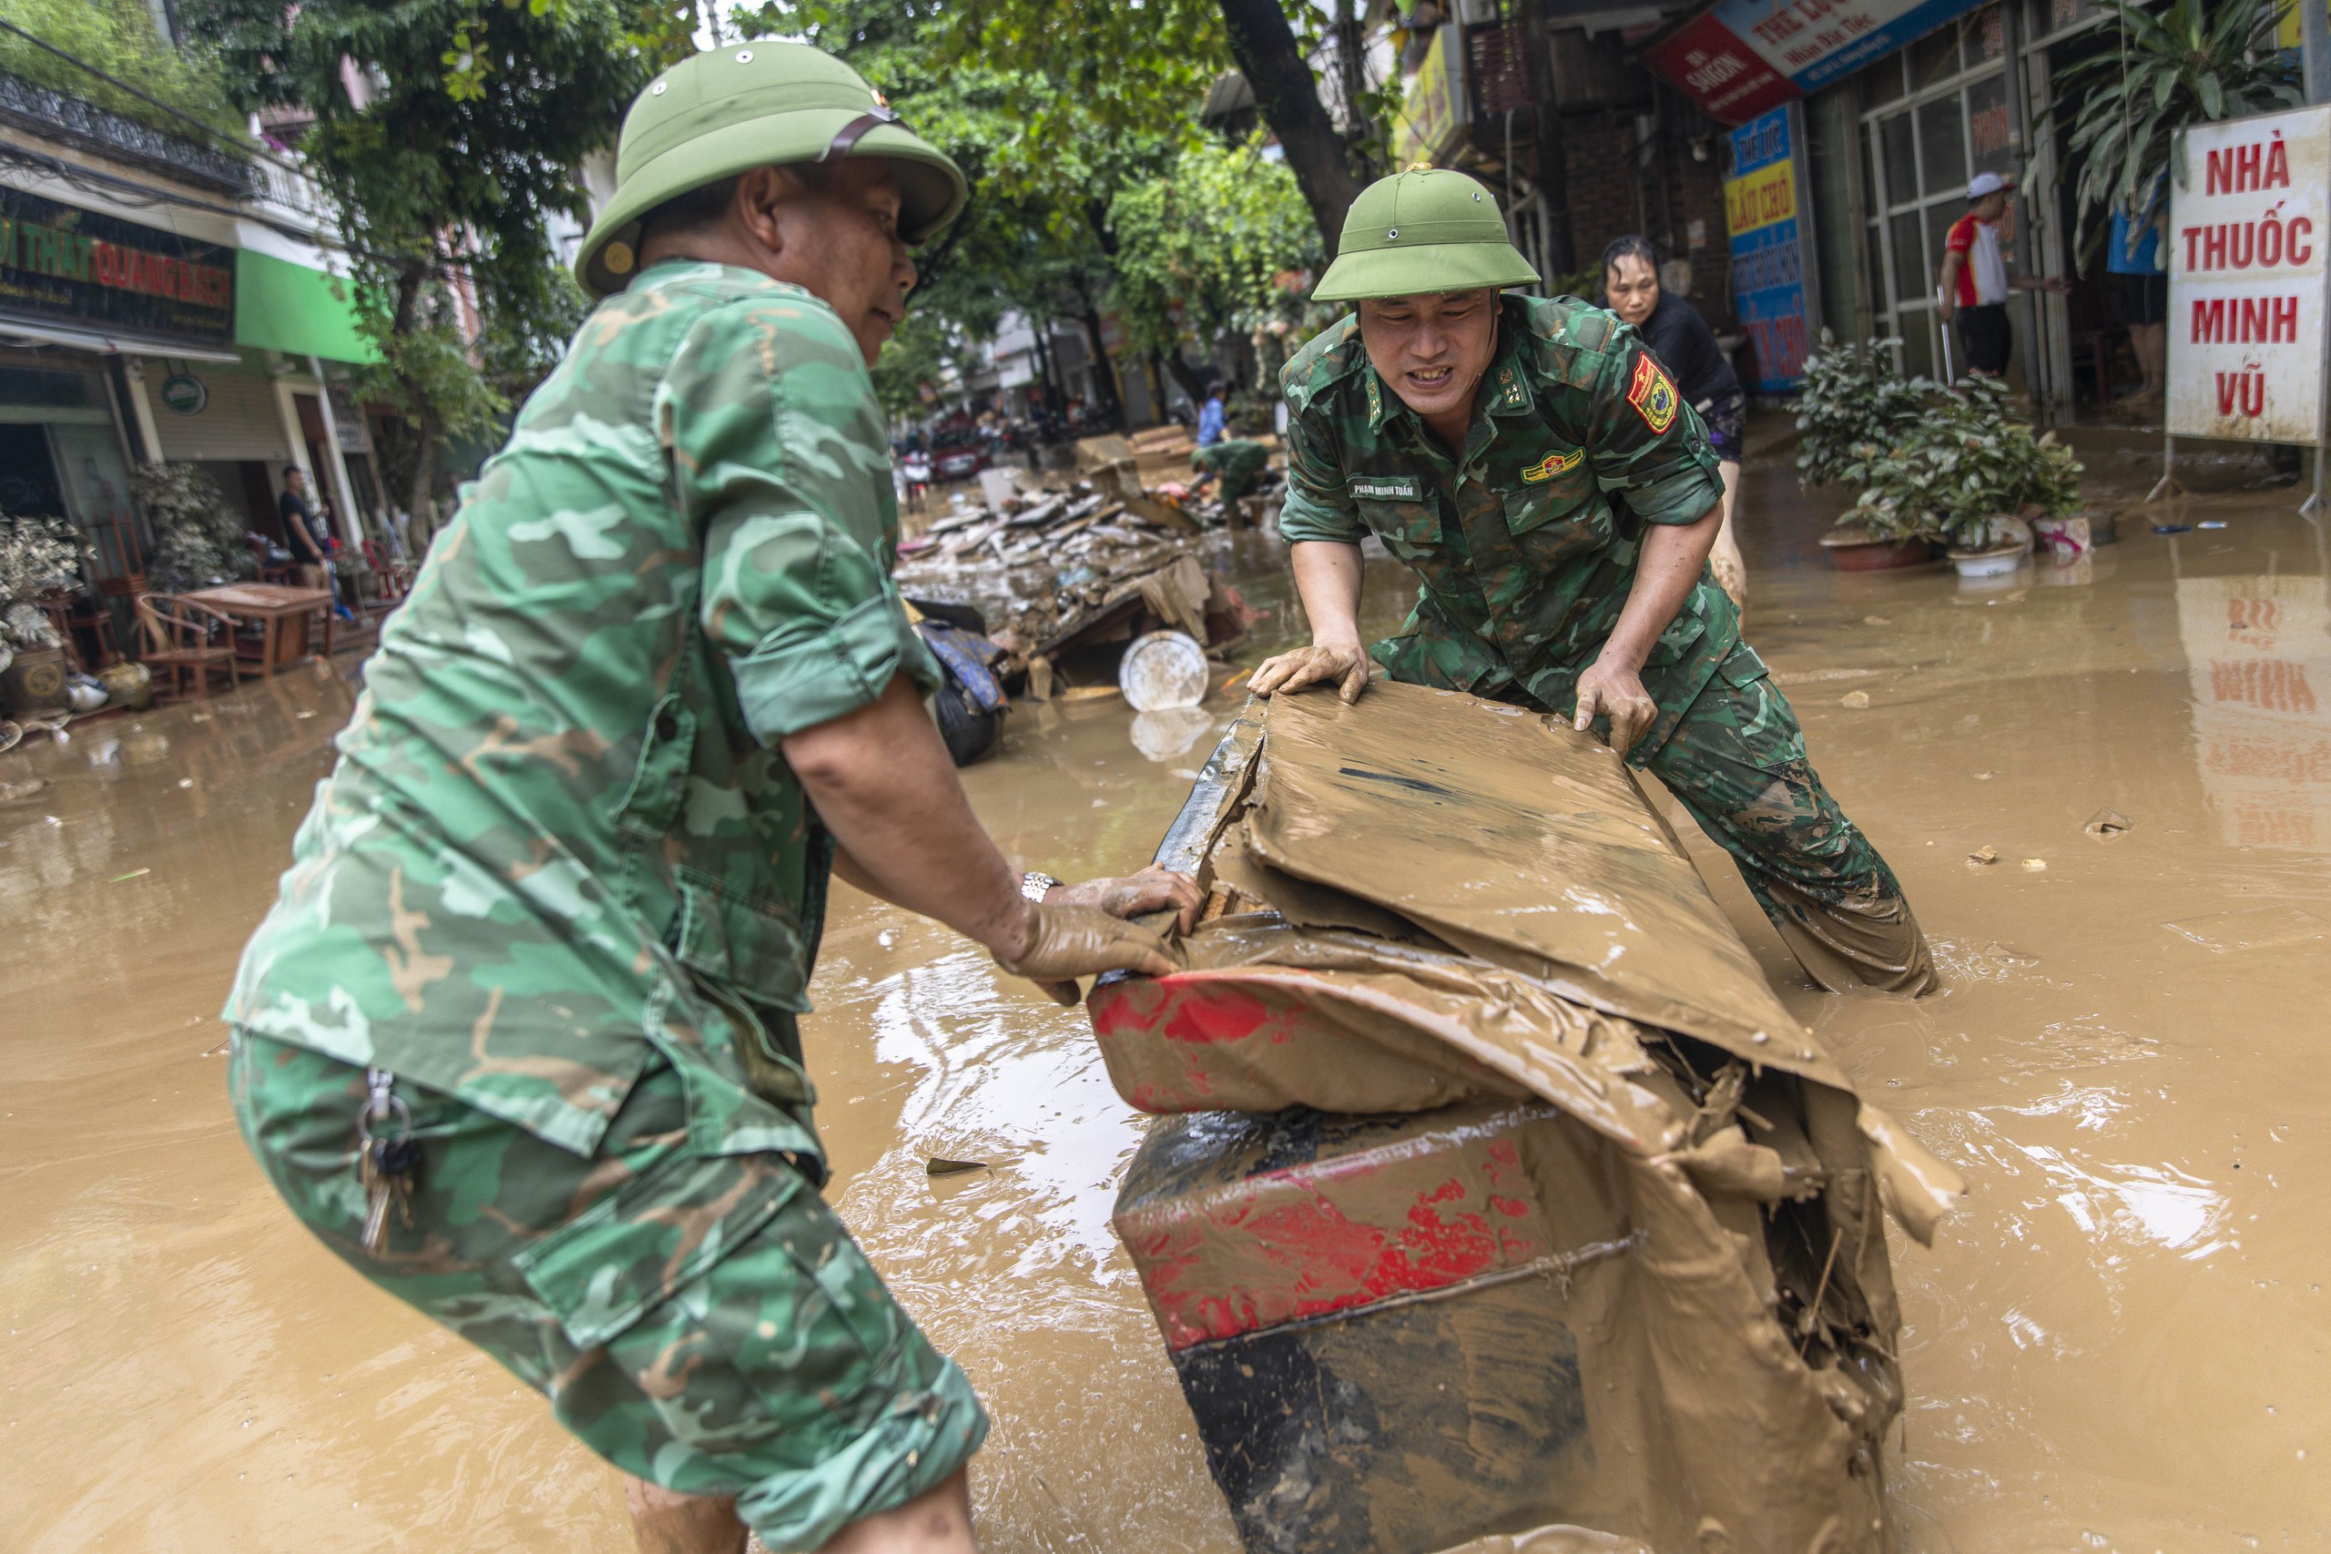
[(2193, 743), (2219, 834), (2331, 850), (2331, 603), (2322, 575), (2177, 578)]

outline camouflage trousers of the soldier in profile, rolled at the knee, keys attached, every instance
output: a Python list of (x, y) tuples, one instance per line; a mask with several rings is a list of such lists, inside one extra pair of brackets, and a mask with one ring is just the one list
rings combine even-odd
[(769, 1549), (816, 1549), (946, 1482), (986, 1435), (781, 1156), (697, 1156), (650, 1069), (592, 1158), (396, 1081), (413, 1223), (361, 1244), (364, 1069), (238, 1030), (235, 1121), (291, 1212), (359, 1274), (501, 1361), (583, 1444), (681, 1493), (737, 1498)]

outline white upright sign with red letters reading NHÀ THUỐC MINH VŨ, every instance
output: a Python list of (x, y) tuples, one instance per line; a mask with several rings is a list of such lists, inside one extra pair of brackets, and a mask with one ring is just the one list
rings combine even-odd
[(2186, 133), (2170, 189), (2170, 394), (2179, 438), (2322, 433), (2331, 107)]

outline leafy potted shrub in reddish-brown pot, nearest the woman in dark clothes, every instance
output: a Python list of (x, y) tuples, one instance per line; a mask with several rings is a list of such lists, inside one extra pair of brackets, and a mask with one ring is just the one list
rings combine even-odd
[[(1797, 401), (1797, 485), (1869, 485), (1869, 471), (1925, 412), (1937, 394), (1925, 377), (1902, 377), (1893, 368), (1897, 340), (1839, 345), (1828, 329), (1821, 349), (1804, 361), (1804, 394)], [(1848, 510), (1821, 548), (1837, 571), (1883, 571), (1932, 559), (1930, 538), (1916, 527), (1872, 529), (1867, 515)]]

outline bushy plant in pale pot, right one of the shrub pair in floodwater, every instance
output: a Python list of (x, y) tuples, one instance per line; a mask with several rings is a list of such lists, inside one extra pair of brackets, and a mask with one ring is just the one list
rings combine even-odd
[(1937, 394), (1865, 471), (1851, 517), (1874, 536), (1946, 541), (1967, 578), (2014, 571), (2030, 550), (2033, 520), (2079, 506), (2079, 461), (2054, 431), (2033, 433), (2007, 415), (1998, 377), (1965, 377)]

